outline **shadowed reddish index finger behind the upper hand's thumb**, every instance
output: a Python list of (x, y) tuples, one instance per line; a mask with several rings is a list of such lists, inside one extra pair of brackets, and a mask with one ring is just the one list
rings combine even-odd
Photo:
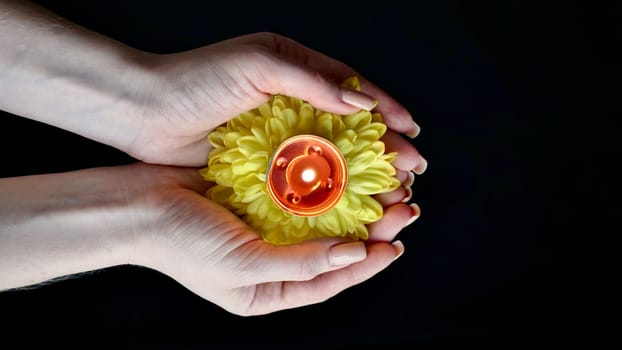
[[(262, 43), (297, 64), (307, 66), (337, 82), (342, 82), (351, 76), (357, 76), (361, 84), (361, 92), (372, 96), (377, 101), (376, 110), (384, 116), (385, 123), (389, 128), (410, 137), (416, 137), (419, 134), (420, 127), (413, 121), (412, 116), (404, 106), (345, 63), (306, 47), (295, 40), (274, 33), (254, 34), (236, 40), (245, 43)], [(321, 108), (320, 106), (317, 107)]]

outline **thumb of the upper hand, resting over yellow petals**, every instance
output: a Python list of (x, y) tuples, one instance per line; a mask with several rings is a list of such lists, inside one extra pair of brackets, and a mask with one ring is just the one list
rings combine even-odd
[(276, 54), (258, 67), (262, 79), (255, 86), (263, 93), (293, 96), (314, 107), (336, 114), (351, 114), (361, 109), (370, 111), (378, 102), (372, 96), (340, 86), (311, 68)]

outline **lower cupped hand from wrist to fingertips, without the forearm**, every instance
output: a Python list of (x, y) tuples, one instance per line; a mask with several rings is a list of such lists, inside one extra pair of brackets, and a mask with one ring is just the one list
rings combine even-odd
[(370, 227), (367, 242), (317, 239), (275, 246), (205, 198), (208, 184), (196, 169), (129, 167), (123, 182), (131, 189), (128, 214), (136, 237), (131, 263), (167, 274), (238, 315), (318, 303), (369, 279), (404, 251), (401, 242), (389, 241), (413, 217), (410, 207), (398, 203)]

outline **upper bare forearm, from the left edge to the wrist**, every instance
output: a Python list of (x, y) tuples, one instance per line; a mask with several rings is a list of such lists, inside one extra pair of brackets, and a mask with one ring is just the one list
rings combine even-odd
[(0, 109), (13, 114), (127, 150), (148, 57), (28, 2), (0, 2)]

